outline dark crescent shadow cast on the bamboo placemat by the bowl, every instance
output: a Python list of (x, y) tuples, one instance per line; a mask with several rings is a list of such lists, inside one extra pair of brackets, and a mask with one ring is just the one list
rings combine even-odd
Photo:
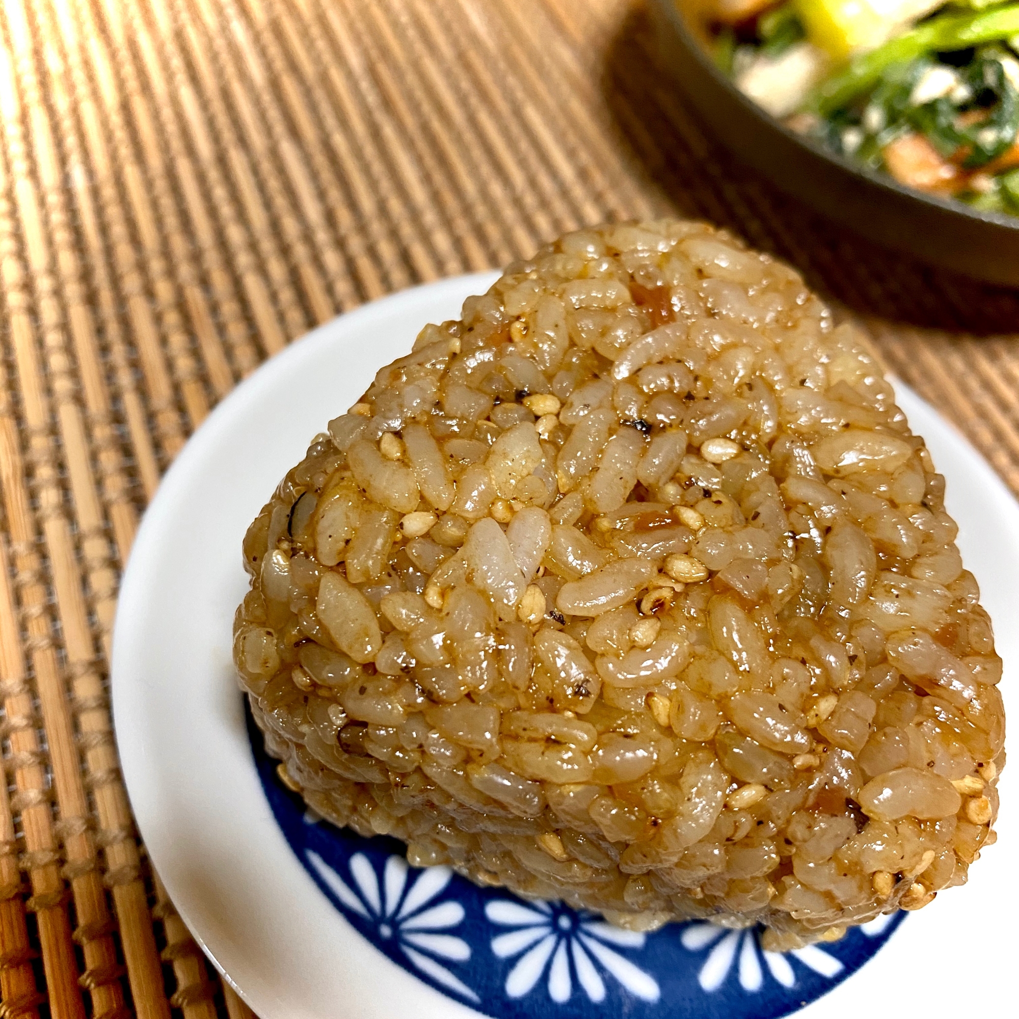
[(1019, 290), (983, 284), (878, 247), (776, 191), (683, 104), (637, 9), (606, 53), (604, 94), (639, 169), (685, 215), (709, 219), (797, 266), (853, 312), (977, 335), (1015, 332)]

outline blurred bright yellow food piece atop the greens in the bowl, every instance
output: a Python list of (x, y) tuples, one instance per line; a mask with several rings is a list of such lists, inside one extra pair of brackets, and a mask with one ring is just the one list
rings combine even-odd
[(880, 46), (944, 0), (795, 0), (815, 46), (836, 60)]

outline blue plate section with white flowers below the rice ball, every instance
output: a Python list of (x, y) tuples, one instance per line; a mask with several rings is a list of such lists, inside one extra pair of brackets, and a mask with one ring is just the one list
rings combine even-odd
[(276, 776), (249, 716), (262, 788), (322, 893), (396, 965), (493, 1019), (775, 1019), (824, 995), (888, 941), (903, 914), (832, 945), (780, 955), (758, 930), (669, 924), (621, 930), (594, 913), (415, 870), (400, 843), (363, 839), (309, 811)]

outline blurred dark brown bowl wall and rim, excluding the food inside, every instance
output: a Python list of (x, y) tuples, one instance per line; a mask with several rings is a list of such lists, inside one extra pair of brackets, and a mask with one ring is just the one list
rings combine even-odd
[(912, 191), (796, 135), (715, 66), (675, 0), (651, 0), (650, 12), (662, 66), (700, 119), (783, 191), (923, 262), (1019, 285), (1019, 218)]

